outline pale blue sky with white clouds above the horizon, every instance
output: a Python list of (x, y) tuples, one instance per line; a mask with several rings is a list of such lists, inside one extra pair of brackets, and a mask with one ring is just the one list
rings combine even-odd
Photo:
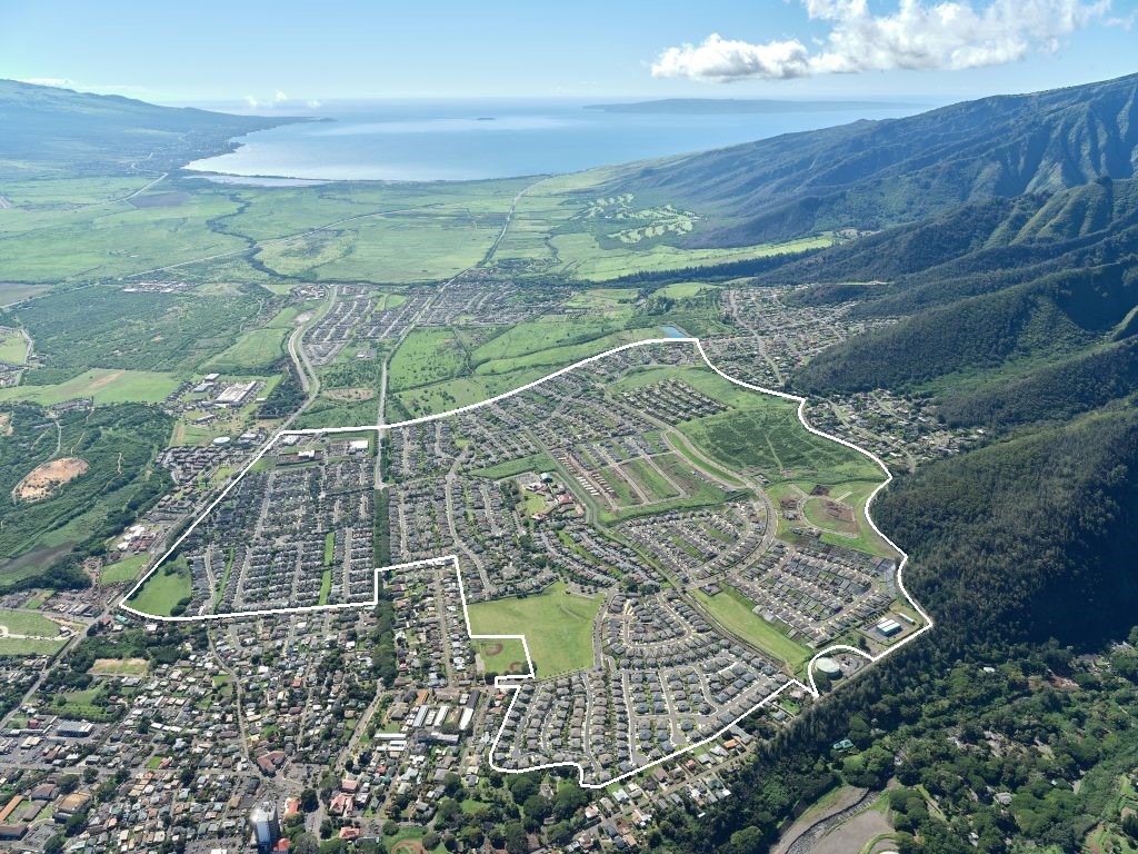
[(333, 99), (964, 99), (1138, 72), (1138, 0), (0, 0), (0, 77)]

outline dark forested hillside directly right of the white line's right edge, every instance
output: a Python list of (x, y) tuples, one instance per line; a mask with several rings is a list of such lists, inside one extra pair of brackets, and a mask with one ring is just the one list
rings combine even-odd
[(874, 512), (909, 550), (942, 637), (1116, 637), (1138, 608), (1138, 414), (931, 463)]

